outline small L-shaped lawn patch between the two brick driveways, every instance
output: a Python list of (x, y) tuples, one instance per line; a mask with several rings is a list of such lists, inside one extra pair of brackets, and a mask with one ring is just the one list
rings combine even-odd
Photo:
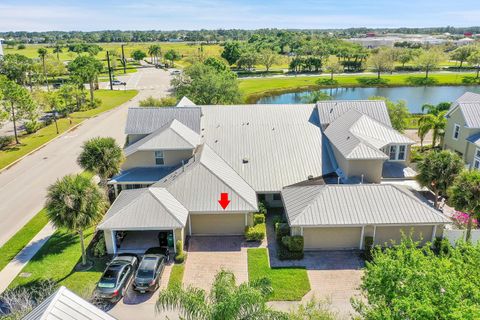
[(271, 301), (299, 301), (310, 291), (307, 270), (302, 267), (270, 268), (265, 248), (248, 249), (250, 281), (268, 278), (272, 282)]

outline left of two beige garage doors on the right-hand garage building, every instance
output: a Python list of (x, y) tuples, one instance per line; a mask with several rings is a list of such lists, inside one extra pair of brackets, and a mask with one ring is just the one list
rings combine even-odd
[(304, 228), (305, 250), (358, 249), (362, 228)]

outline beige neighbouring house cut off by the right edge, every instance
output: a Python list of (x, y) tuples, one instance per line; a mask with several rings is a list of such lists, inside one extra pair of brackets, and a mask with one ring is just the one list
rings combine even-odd
[(444, 148), (457, 152), (469, 168), (480, 168), (480, 94), (467, 92), (446, 114)]

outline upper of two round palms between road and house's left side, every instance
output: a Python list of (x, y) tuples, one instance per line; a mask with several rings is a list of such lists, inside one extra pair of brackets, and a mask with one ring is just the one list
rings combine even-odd
[(100, 185), (106, 187), (108, 178), (120, 172), (124, 160), (123, 150), (113, 138), (93, 138), (83, 144), (78, 164), (100, 177)]

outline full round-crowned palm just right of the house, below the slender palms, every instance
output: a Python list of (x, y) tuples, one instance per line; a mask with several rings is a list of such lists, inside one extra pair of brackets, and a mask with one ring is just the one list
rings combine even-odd
[(452, 151), (430, 151), (418, 163), (417, 181), (435, 194), (434, 205), (438, 208), (438, 197), (446, 195), (455, 177), (463, 170), (462, 158)]

